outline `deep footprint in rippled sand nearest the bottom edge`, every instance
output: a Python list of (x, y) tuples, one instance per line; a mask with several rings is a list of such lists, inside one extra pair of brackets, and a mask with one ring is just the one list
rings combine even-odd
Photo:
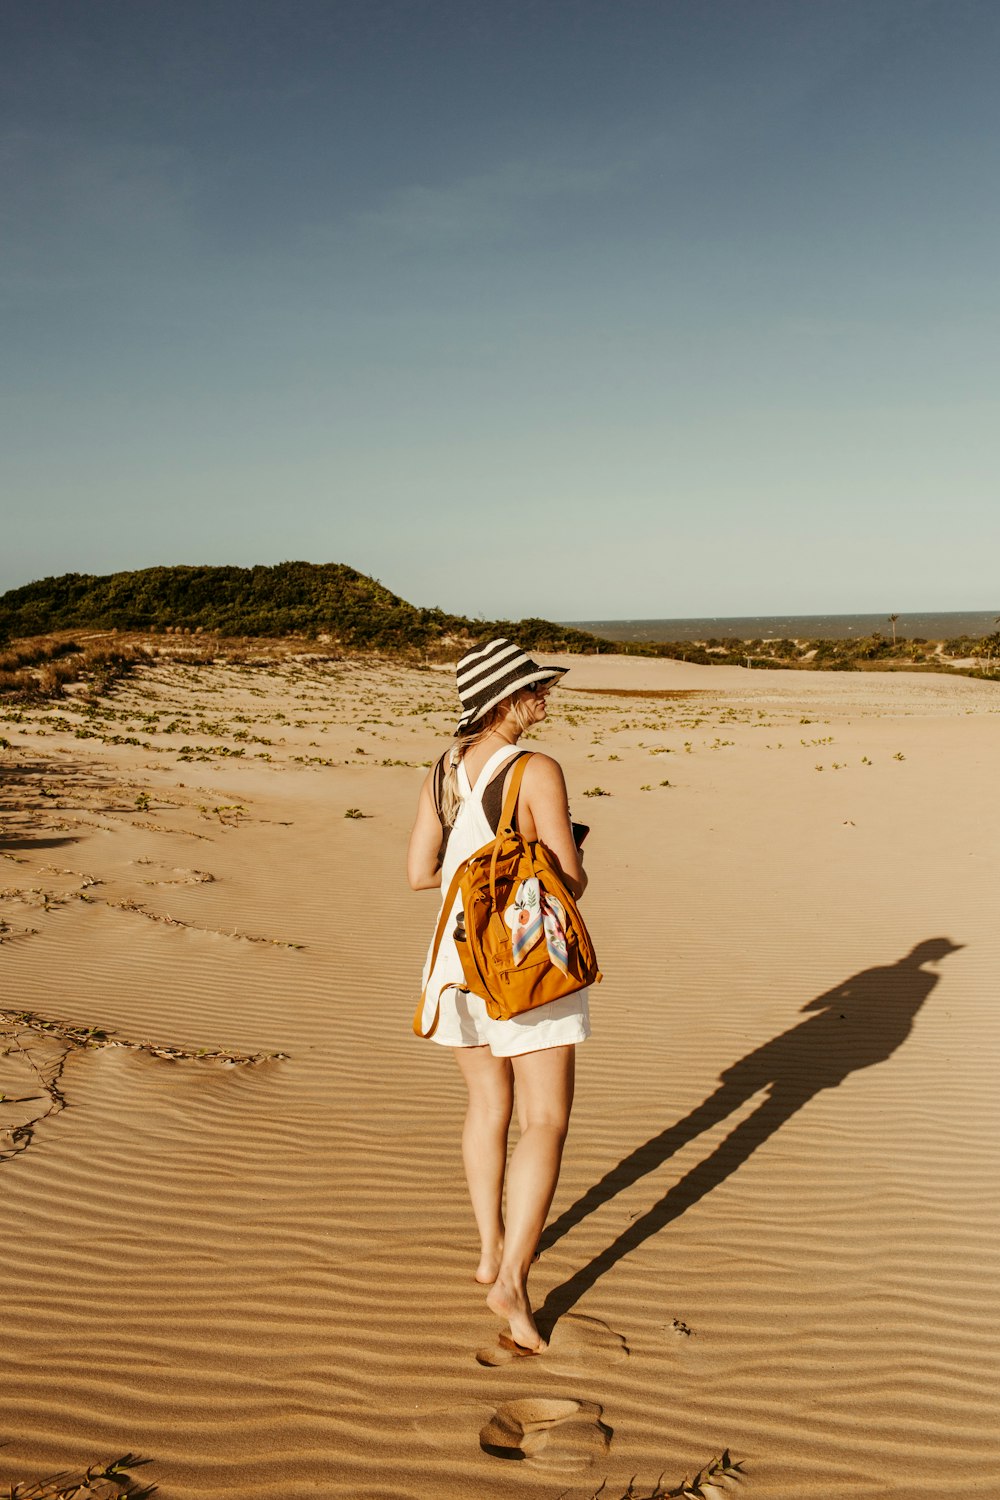
[(538, 1468), (589, 1468), (607, 1454), (612, 1428), (601, 1422), (597, 1401), (532, 1396), (504, 1401), (480, 1432), (480, 1448), (493, 1458)]

